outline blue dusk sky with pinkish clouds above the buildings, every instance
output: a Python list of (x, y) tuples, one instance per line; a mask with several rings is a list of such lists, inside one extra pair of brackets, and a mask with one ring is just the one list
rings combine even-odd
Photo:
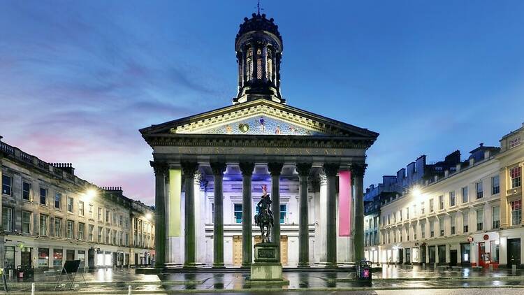
[[(282, 95), (379, 132), (365, 186), (524, 122), (524, 1), (263, 0)], [(231, 104), (254, 0), (0, 1), (0, 135), (154, 203), (138, 129)]]

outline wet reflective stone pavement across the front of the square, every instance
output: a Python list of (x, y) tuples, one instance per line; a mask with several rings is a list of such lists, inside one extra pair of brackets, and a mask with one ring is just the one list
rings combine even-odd
[[(511, 273), (511, 270), (479, 270), (472, 268), (421, 268), (419, 266), (400, 267), (383, 266), (373, 273), (372, 287), (357, 285), (353, 279), (354, 273), (349, 271), (286, 271), (283, 276), (289, 280), (289, 285), (250, 285), (249, 273), (168, 273), (161, 275), (136, 274), (134, 269), (99, 269), (94, 273), (84, 273), (76, 276), (76, 284), (73, 286), (77, 292), (85, 294), (127, 294), (127, 288), (131, 286), (133, 294), (169, 294), (178, 292), (269, 292), (283, 294), (286, 290), (315, 294), (321, 291), (354, 291), (363, 290), (356, 294), (391, 294), (384, 293), (390, 290), (413, 290), (413, 289), (456, 289), (464, 294), (465, 290), (480, 290), (474, 288), (493, 288), (504, 290), (500, 294), (524, 294), (524, 271)], [(36, 294), (54, 294), (57, 275), (37, 273)], [(62, 278), (64, 279), (64, 278)], [(29, 292), (31, 282), (15, 282), (10, 280), (8, 287), (12, 291)], [(58, 290), (71, 294), (68, 289), (71, 285), (62, 281)], [(467, 289), (462, 289), (467, 288)], [(511, 293), (517, 290), (517, 293)], [(312, 293), (313, 292), (313, 293)], [(468, 291), (469, 292), (469, 291)], [(402, 293), (406, 293), (402, 291)], [(421, 293), (438, 294), (438, 293)], [(455, 294), (446, 292), (447, 295)], [(481, 293), (470, 293), (481, 294)], [(490, 292), (497, 294), (497, 292)]]

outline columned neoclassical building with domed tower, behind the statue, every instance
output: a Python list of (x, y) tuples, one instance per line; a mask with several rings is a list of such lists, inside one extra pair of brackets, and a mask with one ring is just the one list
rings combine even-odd
[(282, 264), (363, 258), (365, 152), (378, 134), (287, 105), (282, 50), (272, 18), (246, 17), (233, 104), (140, 130), (153, 150), (157, 268), (249, 266), (262, 185)]

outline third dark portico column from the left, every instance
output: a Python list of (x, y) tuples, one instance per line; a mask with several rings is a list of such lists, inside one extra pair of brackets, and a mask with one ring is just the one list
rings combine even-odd
[(213, 267), (224, 267), (224, 172), (226, 163), (211, 163), (214, 180)]

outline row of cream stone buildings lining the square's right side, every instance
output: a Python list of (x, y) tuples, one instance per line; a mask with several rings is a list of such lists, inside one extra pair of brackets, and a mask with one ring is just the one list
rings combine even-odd
[(500, 147), (481, 144), (460, 161), (460, 152), (444, 161), (408, 166), (393, 182), (409, 179), (409, 167), (421, 173), (412, 185), (386, 182), (366, 195), (366, 233), (378, 234), (365, 255), (375, 263), (448, 266), (522, 267), (522, 167), (524, 124), (503, 136)]

